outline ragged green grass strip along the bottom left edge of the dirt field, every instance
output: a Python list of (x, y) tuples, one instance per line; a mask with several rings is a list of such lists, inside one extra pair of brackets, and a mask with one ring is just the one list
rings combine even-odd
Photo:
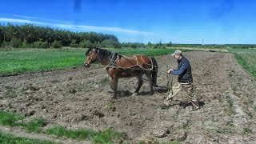
[[(0, 125), (21, 126), (27, 132), (43, 133), (42, 128), (46, 122), (42, 118), (34, 118), (24, 122), (24, 116), (10, 112), (0, 111)], [(47, 129), (45, 134), (53, 134), (58, 137), (73, 138), (75, 140), (90, 140), (94, 143), (113, 143), (119, 138), (124, 138), (124, 134), (112, 129), (95, 132), (94, 130), (68, 130), (63, 126), (54, 126)]]

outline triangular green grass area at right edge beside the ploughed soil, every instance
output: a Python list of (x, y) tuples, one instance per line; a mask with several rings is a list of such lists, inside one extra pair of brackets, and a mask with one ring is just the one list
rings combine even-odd
[(238, 63), (250, 74), (256, 77), (256, 50), (253, 49), (230, 49)]

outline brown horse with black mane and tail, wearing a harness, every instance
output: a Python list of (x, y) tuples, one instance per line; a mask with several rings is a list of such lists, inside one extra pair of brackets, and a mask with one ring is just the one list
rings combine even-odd
[(124, 56), (122, 54), (111, 53), (109, 50), (99, 48), (89, 48), (86, 51), (86, 61), (84, 65), (89, 67), (91, 63), (98, 61), (106, 66), (106, 71), (110, 75), (110, 87), (114, 90), (114, 98), (117, 98), (118, 78), (138, 78), (138, 87), (134, 94), (138, 94), (145, 74), (150, 84), (150, 94), (154, 94), (153, 86), (157, 86), (158, 64), (154, 58), (144, 55)]

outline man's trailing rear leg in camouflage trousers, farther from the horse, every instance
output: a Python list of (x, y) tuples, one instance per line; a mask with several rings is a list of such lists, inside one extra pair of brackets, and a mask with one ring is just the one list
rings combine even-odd
[(194, 94), (194, 85), (193, 83), (190, 84), (182, 84), (182, 87), (186, 89), (187, 94), (189, 94), (190, 100), (192, 102), (192, 106), (194, 110), (198, 110), (200, 108), (198, 103), (198, 98)]

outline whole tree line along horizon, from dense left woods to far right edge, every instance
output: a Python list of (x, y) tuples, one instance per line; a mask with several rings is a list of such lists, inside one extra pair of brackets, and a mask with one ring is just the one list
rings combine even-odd
[(73, 32), (59, 30), (48, 26), (34, 26), (32, 24), (13, 25), (0, 23), (0, 48), (60, 48), (69, 47), (102, 47), (102, 48), (166, 48), (166, 47), (206, 47), (206, 48), (256, 48), (256, 45), (226, 44), (226, 45), (202, 45), (202, 44), (177, 44), (172, 42), (146, 45), (140, 42), (118, 42), (113, 34), (95, 32)]

